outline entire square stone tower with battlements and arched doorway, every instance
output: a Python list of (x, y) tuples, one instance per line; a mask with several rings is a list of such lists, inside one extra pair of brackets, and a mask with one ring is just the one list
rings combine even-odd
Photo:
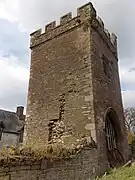
[[(98, 163), (128, 144), (118, 73), (117, 38), (91, 3), (31, 34), (26, 143), (86, 138), (97, 145)], [(104, 164), (105, 164), (104, 163)]]

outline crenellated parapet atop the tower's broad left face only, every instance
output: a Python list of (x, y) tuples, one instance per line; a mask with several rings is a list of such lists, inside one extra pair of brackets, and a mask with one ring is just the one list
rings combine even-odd
[(85, 4), (77, 9), (76, 17), (72, 17), (71, 12), (67, 13), (60, 17), (59, 25), (56, 25), (56, 21), (53, 21), (45, 26), (45, 32), (42, 33), (41, 29), (33, 32), (31, 34), (30, 47), (32, 48), (40, 43), (53, 39), (93, 17), (96, 17), (96, 10), (92, 3)]

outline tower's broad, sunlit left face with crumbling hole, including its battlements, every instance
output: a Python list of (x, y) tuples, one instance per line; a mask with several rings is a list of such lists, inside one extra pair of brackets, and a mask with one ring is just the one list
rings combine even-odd
[[(28, 143), (46, 143), (51, 137), (60, 140), (62, 136), (62, 141), (71, 144), (84, 136), (90, 140), (91, 135), (96, 141), (88, 26), (94, 13), (89, 3), (78, 8), (77, 17), (67, 14), (60, 26), (51, 23), (44, 34), (37, 31), (31, 35)], [(50, 127), (54, 121), (56, 128), (56, 124)], [(58, 130), (61, 121), (62, 131)], [(56, 131), (61, 133), (58, 138)]]

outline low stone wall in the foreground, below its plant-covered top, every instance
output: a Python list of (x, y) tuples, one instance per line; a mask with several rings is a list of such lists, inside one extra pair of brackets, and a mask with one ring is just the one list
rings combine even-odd
[(19, 163), (16, 159), (1, 165), (0, 180), (91, 180), (105, 171), (105, 166), (98, 164), (96, 148), (83, 150), (68, 160), (32, 162), (28, 158)]

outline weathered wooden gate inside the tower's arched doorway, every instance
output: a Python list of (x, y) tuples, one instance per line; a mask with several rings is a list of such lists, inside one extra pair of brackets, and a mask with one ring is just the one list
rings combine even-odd
[(111, 118), (108, 115), (106, 116), (105, 121), (105, 133), (109, 164), (112, 168), (120, 166), (124, 163), (124, 158), (118, 150), (116, 131)]

